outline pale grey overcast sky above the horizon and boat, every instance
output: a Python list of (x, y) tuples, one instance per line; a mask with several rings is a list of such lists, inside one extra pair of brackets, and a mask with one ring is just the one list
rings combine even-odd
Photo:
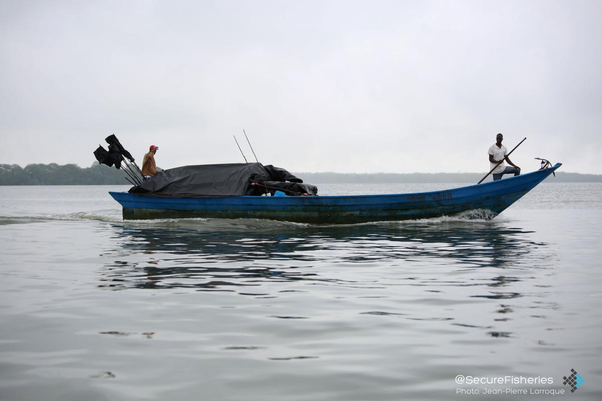
[(602, 1), (0, 0), (0, 163), (602, 173)]

